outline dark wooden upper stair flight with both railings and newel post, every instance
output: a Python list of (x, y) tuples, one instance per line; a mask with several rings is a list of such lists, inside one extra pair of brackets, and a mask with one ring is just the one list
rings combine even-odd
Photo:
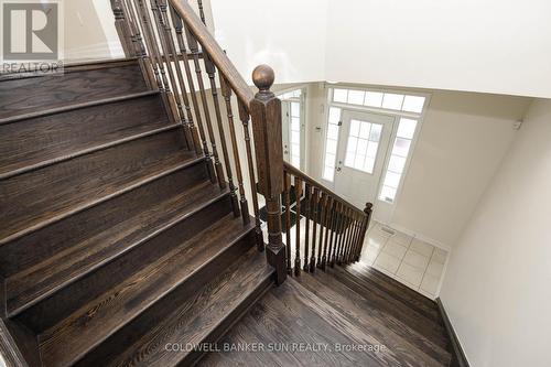
[[(201, 1), (199, 15), (184, 0), (111, 4), (125, 60), (0, 75), (10, 367), (193, 365), (272, 284), (361, 252), (371, 206), (283, 163), (270, 67), (255, 95)], [(291, 249), (291, 209), (305, 247), (296, 231)]]

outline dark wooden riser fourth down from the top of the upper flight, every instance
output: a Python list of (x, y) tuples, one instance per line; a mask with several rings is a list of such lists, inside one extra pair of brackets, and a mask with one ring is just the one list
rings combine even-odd
[[(198, 161), (111, 201), (0, 246), (0, 274), (6, 278), (28, 269), (208, 180), (204, 161)], [(78, 228), (78, 230), (74, 230)]]

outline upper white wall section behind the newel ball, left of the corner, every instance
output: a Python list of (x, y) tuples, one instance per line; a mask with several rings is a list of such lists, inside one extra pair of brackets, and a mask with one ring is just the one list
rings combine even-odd
[(245, 80), (269, 64), (276, 83), (323, 80), (328, 0), (212, 0), (216, 39)]

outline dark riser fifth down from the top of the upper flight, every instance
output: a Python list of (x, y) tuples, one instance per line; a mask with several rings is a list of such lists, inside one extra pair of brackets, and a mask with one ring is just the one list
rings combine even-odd
[(173, 227), (161, 231), (158, 236), (138, 244), (132, 250), (123, 253), (118, 259), (30, 307), (18, 315), (17, 320), (36, 334), (42, 333), (67, 314), (77, 310), (82, 304), (101, 295), (131, 274), (154, 262), (173, 247), (181, 244), (182, 238), (194, 236), (197, 231), (203, 230), (229, 212), (229, 195), (226, 195)]

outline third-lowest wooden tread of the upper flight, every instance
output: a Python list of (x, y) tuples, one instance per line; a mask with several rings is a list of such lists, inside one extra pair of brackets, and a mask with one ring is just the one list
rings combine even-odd
[(8, 313), (28, 309), (226, 194), (210, 182), (199, 183), (8, 278)]

